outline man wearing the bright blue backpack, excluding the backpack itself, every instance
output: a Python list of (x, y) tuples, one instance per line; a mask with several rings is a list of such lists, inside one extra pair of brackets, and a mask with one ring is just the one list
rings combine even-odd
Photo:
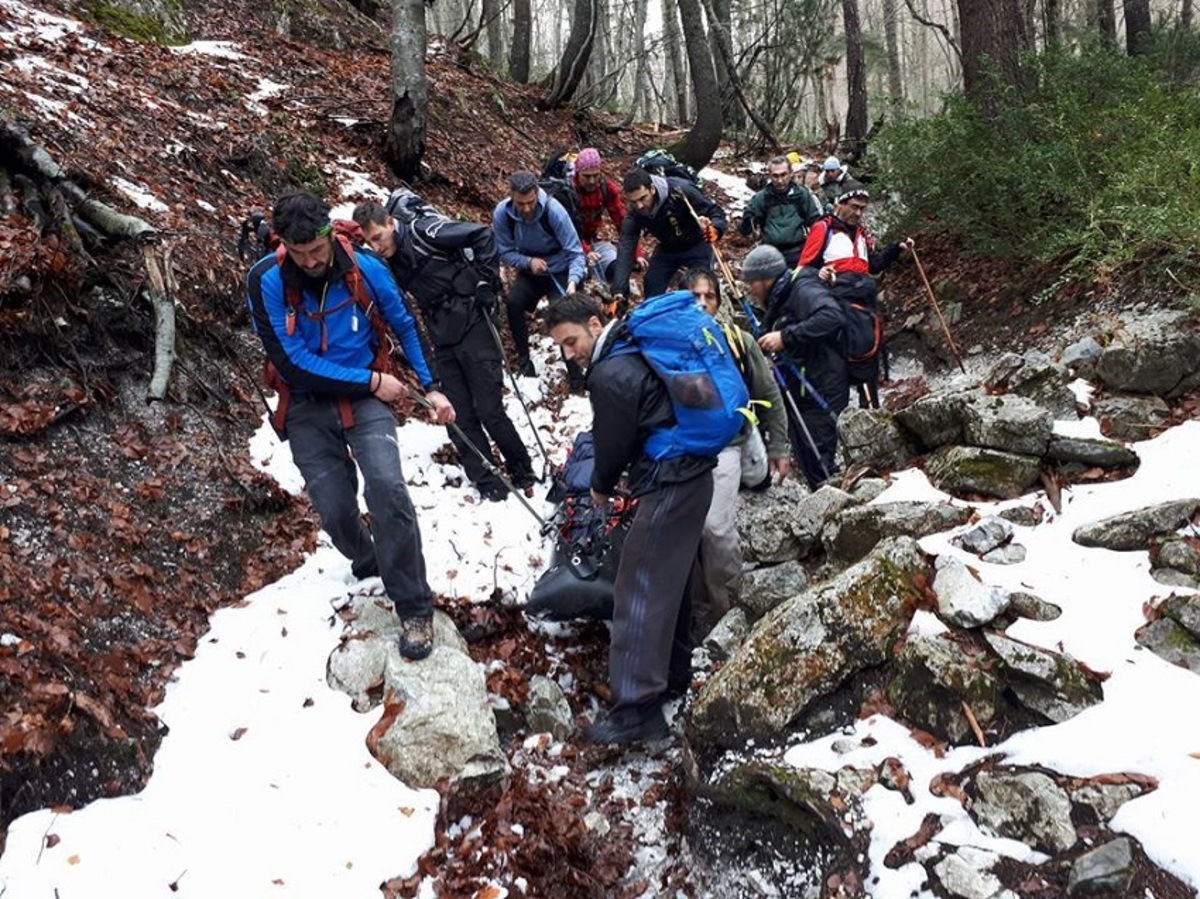
[(595, 300), (580, 294), (556, 300), (546, 325), (563, 355), (588, 370), (593, 502), (605, 508), (623, 473), (637, 497), (613, 585), (612, 707), (584, 736), (594, 743), (661, 739), (667, 736), (662, 703), (685, 693), (691, 681), (689, 579), (716, 459), (647, 455), (650, 434), (674, 424), (671, 398), (649, 362), (625, 352), (619, 320), (606, 324)]

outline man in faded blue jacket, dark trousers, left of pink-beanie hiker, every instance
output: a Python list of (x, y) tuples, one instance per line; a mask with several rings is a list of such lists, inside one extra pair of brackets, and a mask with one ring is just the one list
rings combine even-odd
[(492, 230), (500, 262), (517, 272), (506, 301), (517, 370), (523, 377), (534, 377), (526, 314), (544, 296), (572, 294), (583, 283), (587, 276), (583, 245), (570, 214), (562, 203), (546, 196), (532, 172), (515, 172), (509, 178), (509, 197), (497, 204)]

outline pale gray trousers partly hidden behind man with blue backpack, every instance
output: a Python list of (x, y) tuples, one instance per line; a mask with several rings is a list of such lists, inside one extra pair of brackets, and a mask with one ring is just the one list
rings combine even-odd
[(742, 444), (726, 446), (713, 469), (713, 502), (700, 537), (692, 573), (692, 621), (696, 637), (710, 631), (738, 599), (742, 586), (742, 540), (738, 537), (738, 490), (742, 487)]

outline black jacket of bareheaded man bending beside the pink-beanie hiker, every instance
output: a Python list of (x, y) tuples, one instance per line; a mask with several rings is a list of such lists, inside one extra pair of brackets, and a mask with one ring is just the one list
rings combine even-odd
[[(665, 253), (682, 253), (704, 242), (704, 235), (696, 224), (696, 216), (708, 216), (718, 234), (727, 226), (725, 210), (704, 196), (691, 181), (682, 178), (650, 178), (658, 199), (647, 215), (630, 208), (620, 223), (620, 240), (617, 244), (617, 262), (612, 271), (613, 293), (629, 293), (629, 276), (637, 260), (637, 241), (643, 232), (649, 232), (659, 241)], [(686, 198), (686, 202), (685, 202)], [(688, 209), (688, 204), (691, 209)], [(692, 215), (695, 210), (696, 215)]]

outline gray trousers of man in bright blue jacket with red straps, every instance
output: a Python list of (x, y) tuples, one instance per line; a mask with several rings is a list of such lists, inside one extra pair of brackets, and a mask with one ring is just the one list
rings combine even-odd
[[(428, 617), (433, 597), (416, 513), (400, 468), (396, 419), (373, 396), (355, 400), (353, 408), (354, 426), (346, 430), (336, 400), (293, 394), (287, 416), (292, 457), (320, 526), (350, 559), (354, 575), (378, 574), (402, 618)], [(358, 469), (370, 531), (359, 511)]]

